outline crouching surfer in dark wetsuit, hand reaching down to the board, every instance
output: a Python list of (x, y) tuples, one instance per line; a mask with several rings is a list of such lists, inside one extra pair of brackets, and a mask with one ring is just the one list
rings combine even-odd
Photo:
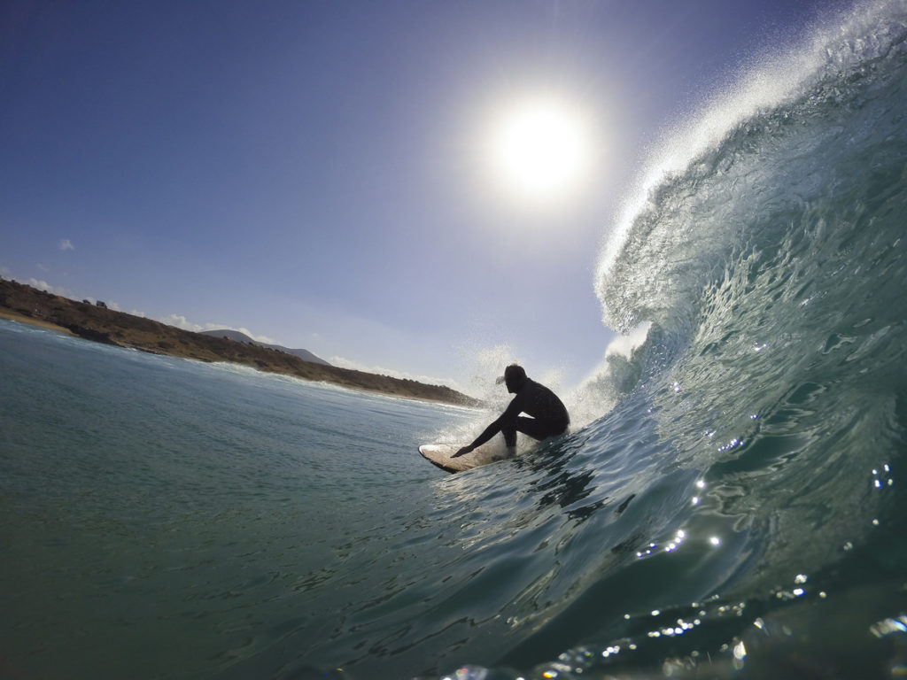
[[(543, 384), (538, 384), (526, 376), (522, 366), (511, 364), (504, 369), (503, 381), (507, 384), (507, 392), (516, 394), (512, 402), (501, 414), (501, 417), (485, 428), (484, 432), (475, 438), (469, 446), (463, 446), (451, 458), (463, 456), (466, 453), (482, 446), (495, 434), (502, 432), (504, 442), (507, 444), (507, 453), (512, 456), (516, 452), (516, 433), (522, 432), (533, 439), (547, 439), (567, 432), (570, 425), (570, 414), (567, 407)], [(501, 382), (501, 379), (498, 379)], [(526, 418), (520, 413), (532, 416)]]

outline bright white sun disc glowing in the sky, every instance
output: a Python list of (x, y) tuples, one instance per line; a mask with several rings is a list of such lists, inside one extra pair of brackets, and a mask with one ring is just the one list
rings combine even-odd
[(493, 176), (512, 198), (569, 198), (588, 179), (593, 142), (577, 107), (547, 97), (502, 110), (491, 134)]

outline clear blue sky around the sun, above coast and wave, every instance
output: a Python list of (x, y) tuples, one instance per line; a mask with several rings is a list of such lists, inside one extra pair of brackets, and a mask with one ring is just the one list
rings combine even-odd
[[(0, 275), (467, 392), (488, 357), (569, 388), (614, 337), (592, 277), (653, 146), (824, 5), (5, 3)], [(539, 93), (588, 134), (555, 205), (487, 160)]]

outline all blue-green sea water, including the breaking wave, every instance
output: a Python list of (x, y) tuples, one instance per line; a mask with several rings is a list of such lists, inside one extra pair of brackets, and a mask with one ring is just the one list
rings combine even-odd
[(866, 3), (668, 133), (592, 282), (632, 340), (512, 461), (0, 322), (0, 676), (907, 675), (905, 85)]

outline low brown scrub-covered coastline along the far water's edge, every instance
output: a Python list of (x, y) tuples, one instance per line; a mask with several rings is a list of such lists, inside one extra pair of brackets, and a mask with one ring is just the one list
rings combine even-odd
[(421, 401), (479, 406), (481, 403), (445, 385), (419, 383), (389, 375), (305, 361), (286, 352), (224, 337), (182, 330), (159, 321), (117, 312), (0, 278), (0, 318), (37, 325), (86, 340), (204, 362), (251, 366), (258, 371), (336, 384), (354, 390)]

